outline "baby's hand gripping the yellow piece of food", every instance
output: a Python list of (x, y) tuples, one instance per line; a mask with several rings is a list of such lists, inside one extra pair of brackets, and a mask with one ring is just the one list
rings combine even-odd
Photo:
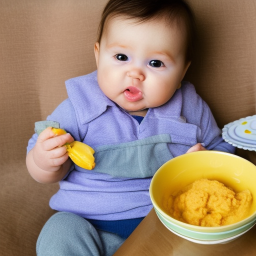
[(66, 147), (62, 145), (73, 140), (69, 133), (56, 136), (51, 127), (47, 127), (39, 134), (33, 148), (35, 164), (46, 171), (59, 170), (60, 166), (68, 159)]

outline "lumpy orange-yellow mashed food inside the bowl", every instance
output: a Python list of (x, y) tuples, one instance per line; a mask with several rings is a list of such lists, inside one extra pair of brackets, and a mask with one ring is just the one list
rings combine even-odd
[(198, 226), (221, 226), (242, 220), (252, 202), (249, 190), (235, 193), (216, 180), (199, 179), (165, 200), (173, 218)]

